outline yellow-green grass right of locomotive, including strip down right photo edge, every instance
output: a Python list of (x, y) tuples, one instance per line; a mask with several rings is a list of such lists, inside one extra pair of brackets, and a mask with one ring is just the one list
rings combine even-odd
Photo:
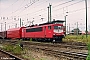
[(90, 60), (90, 35), (87, 36), (86, 35), (67, 35), (63, 41), (65, 42), (83, 42), (86, 43), (88, 46), (88, 56), (86, 58), (86, 60)]

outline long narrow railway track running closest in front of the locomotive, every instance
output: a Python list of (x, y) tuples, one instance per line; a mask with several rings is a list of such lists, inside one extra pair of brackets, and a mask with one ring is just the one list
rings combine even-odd
[(48, 47), (58, 47), (58, 48), (70, 48), (70, 49), (79, 49), (79, 50), (87, 50), (87, 46), (77, 46), (77, 45), (70, 45), (70, 44), (52, 44), (52, 43), (39, 43), (39, 42), (22, 42), (23, 44), (29, 44), (29, 45), (38, 45), (38, 46), (48, 46)]

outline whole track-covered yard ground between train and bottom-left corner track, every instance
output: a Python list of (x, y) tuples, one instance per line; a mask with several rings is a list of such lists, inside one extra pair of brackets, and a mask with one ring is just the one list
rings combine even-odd
[(88, 47), (82, 42), (0, 40), (0, 48), (24, 60), (86, 60), (88, 55)]

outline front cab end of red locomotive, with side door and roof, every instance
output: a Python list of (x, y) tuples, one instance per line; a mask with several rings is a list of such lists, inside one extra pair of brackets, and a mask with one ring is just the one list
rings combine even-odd
[(52, 42), (62, 42), (62, 38), (65, 36), (63, 22), (64, 21), (57, 20), (47, 23), (49, 28), (46, 29), (46, 36), (47, 38), (50, 36), (49, 39), (51, 39)]

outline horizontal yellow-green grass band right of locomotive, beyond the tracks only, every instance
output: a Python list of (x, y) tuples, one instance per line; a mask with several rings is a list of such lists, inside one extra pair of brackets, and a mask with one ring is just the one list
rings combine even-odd
[(86, 35), (67, 35), (63, 41), (69, 42), (69, 41), (74, 41), (74, 42), (83, 42), (83, 43), (88, 43), (90, 42), (90, 35), (86, 38)]

